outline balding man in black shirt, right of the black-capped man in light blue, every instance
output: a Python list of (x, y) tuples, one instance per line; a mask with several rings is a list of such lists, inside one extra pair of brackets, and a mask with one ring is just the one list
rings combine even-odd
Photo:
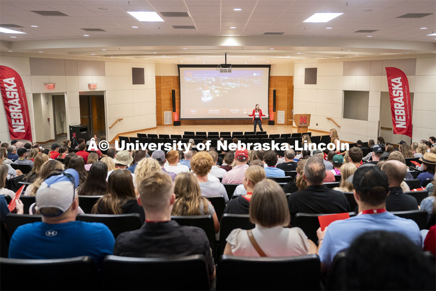
[(381, 169), (388, 176), (389, 182), (389, 195), (386, 198), (386, 210), (418, 210), (418, 202), (415, 197), (403, 193), (400, 187), (407, 173), (406, 165), (400, 161), (388, 161), (383, 164)]

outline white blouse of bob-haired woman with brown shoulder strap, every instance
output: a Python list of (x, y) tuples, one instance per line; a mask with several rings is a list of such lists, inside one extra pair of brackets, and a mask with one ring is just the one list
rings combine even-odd
[[(256, 224), (251, 231), (257, 244), (268, 257), (301, 256), (309, 252), (307, 236), (299, 227), (263, 227)], [(231, 245), (235, 256), (260, 257), (249, 240), (247, 230), (232, 230), (226, 241)]]

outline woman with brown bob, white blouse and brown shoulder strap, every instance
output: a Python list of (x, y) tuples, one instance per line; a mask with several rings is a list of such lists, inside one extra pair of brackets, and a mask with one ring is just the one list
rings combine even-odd
[[(247, 170), (248, 171), (248, 170)], [(286, 196), (280, 185), (264, 179), (254, 187), (249, 203), (253, 229), (236, 228), (227, 237), (224, 255), (245, 257), (291, 257), (316, 252), (316, 246), (290, 223)]]

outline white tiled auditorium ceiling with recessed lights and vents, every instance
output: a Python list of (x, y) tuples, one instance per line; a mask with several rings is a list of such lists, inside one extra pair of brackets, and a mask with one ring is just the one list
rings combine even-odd
[[(342, 15), (304, 22), (315, 13)], [(15, 33), (0, 49), (199, 64), (422, 54), (436, 51), (435, 13), (435, 0), (1, 0), (0, 27)]]

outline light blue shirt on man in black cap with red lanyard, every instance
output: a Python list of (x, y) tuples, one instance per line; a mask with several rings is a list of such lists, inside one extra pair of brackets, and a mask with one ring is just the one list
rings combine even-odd
[(321, 262), (330, 266), (338, 252), (348, 248), (360, 234), (372, 230), (399, 232), (422, 247), (420, 228), (413, 220), (395, 216), (388, 211), (377, 214), (360, 214), (345, 220), (334, 221), (328, 226), (319, 249)]

